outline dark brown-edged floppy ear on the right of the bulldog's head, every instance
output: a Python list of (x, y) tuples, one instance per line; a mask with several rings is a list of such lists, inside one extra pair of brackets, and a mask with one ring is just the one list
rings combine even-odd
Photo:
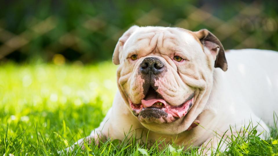
[(219, 67), (223, 71), (226, 71), (228, 69), (228, 64), (225, 57), (225, 51), (218, 38), (207, 29), (201, 29), (194, 33), (196, 34), (197, 38), (199, 38), (201, 43), (211, 51), (211, 54), (215, 60), (214, 67)]

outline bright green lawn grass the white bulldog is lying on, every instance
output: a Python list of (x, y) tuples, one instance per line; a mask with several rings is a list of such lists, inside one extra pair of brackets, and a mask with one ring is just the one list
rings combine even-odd
[[(116, 66), (52, 64), (0, 66), (0, 155), (58, 155), (89, 135), (104, 118), (116, 93)], [(277, 128), (261, 140), (254, 127), (233, 136), (215, 155), (278, 155)], [(221, 138), (221, 136), (220, 136)], [(76, 155), (200, 155), (197, 147), (156, 142), (146, 148), (136, 139), (110, 140)], [(159, 148), (158, 144), (164, 144)]]

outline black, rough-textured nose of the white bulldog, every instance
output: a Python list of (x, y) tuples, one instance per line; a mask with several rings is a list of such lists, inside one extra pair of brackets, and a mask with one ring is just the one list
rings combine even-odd
[(140, 64), (140, 71), (143, 74), (159, 74), (164, 70), (164, 64), (156, 57), (146, 57)]

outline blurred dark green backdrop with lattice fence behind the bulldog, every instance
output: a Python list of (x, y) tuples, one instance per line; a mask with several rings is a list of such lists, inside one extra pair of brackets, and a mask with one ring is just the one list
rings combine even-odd
[(278, 1), (0, 2), (0, 62), (110, 60), (132, 25), (209, 29), (225, 49), (278, 49)]

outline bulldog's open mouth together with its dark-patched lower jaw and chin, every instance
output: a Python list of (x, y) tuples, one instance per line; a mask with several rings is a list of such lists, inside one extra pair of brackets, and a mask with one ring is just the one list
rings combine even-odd
[[(192, 93), (183, 103), (170, 105), (171, 101), (165, 101), (151, 86), (141, 100), (141, 103), (133, 103), (129, 99), (129, 107), (133, 115), (144, 124), (148, 123), (172, 123), (184, 117), (194, 104), (194, 93)], [(166, 99), (166, 98), (165, 98)]]

